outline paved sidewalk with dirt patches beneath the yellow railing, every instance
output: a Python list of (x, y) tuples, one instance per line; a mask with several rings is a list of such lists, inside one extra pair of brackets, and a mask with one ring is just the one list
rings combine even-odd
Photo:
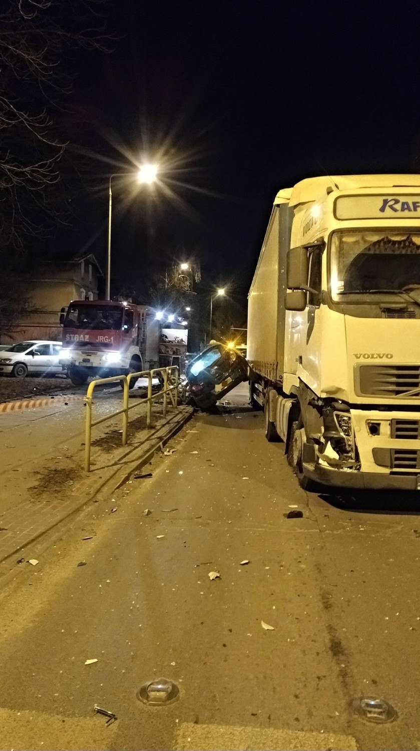
[[(77, 436), (68, 436), (65, 447), (61, 445), (58, 448), (53, 440), (47, 451), (45, 446), (41, 448), (42, 438), (39, 436), (41, 457), (38, 457), (38, 463), (32, 460), (25, 465), (25, 451), (20, 446), (20, 466), (14, 457), (15, 466), (9, 465), (8, 471), (5, 471), (5, 475), (9, 476), (11, 472), (17, 473), (14, 475), (17, 492), (8, 498), (0, 498), (0, 562), (22, 550), (86, 503), (112, 494), (132, 472), (150, 461), (159, 447), (165, 445), (192, 414), (191, 407), (183, 406), (177, 410), (168, 409), (167, 418), (163, 418), (162, 407), (156, 406), (154, 427), (147, 430), (146, 416), (141, 412), (136, 418), (131, 417), (126, 446), (120, 445), (119, 421), (104, 424), (101, 433), (92, 442), (92, 472), (89, 475), (83, 472), (81, 432)], [(45, 429), (53, 429), (54, 416), (54, 413), (44, 415), (40, 433), (45, 435)], [(32, 440), (35, 441), (32, 448), (37, 445), (36, 428), (35, 424), (35, 429), (32, 427), (31, 430)], [(10, 449), (16, 449), (16, 446)], [(3, 460), (7, 459), (7, 450), (6, 445)], [(29, 447), (26, 453), (28, 451)], [(57, 457), (58, 452), (62, 456)], [(35, 466), (37, 469), (34, 469)], [(29, 487), (34, 481), (35, 484)], [(24, 487), (26, 492), (23, 492)]]

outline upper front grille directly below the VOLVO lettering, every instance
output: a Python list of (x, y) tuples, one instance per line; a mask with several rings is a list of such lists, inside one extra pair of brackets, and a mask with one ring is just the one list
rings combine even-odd
[[(360, 396), (366, 397), (418, 399), (420, 365), (361, 365), (358, 369), (356, 393), (357, 391)], [(415, 393), (410, 394), (411, 391)]]

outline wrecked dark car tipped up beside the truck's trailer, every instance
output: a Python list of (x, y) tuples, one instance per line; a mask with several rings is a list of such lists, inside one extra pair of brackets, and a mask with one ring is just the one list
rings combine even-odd
[(223, 344), (207, 347), (186, 367), (192, 400), (201, 409), (211, 409), (247, 376), (245, 358)]

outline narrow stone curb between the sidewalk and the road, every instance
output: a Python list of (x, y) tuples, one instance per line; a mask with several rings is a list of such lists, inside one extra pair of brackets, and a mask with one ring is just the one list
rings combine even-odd
[[(78, 397), (75, 397), (75, 398), (78, 398)], [(63, 514), (62, 517), (59, 517), (58, 519), (53, 521), (53, 523), (45, 527), (45, 529), (35, 532), (32, 536), (29, 535), (28, 538), (26, 538), (26, 540), (21, 541), (21, 543), (17, 544), (13, 550), (9, 550), (6, 555), (0, 556), (0, 564), (10, 559), (11, 556), (14, 556), (18, 551), (23, 550), (24, 548), (28, 547), (30, 544), (38, 541), (40, 538), (46, 535), (47, 532), (50, 532), (52, 529), (55, 529), (60, 524), (62, 524), (66, 520), (73, 517), (74, 514), (77, 514), (78, 511), (83, 509), (84, 506), (86, 506), (89, 502), (92, 501), (92, 499), (98, 498), (98, 493), (103, 492), (104, 489), (106, 489), (105, 492), (107, 495), (111, 495), (112, 493), (114, 493), (119, 487), (125, 484), (125, 482), (128, 480), (128, 478), (130, 477), (130, 475), (132, 475), (133, 472), (137, 471), (137, 469), (141, 469), (141, 467), (143, 467), (145, 464), (150, 462), (150, 460), (153, 458), (156, 452), (159, 451), (160, 447), (168, 443), (168, 441), (171, 440), (173, 436), (179, 433), (179, 431), (183, 429), (184, 425), (186, 425), (186, 423), (189, 422), (189, 420), (191, 420), (194, 414), (195, 414), (195, 410), (192, 408), (190, 409), (189, 412), (184, 412), (184, 414), (182, 415), (182, 418), (179, 421), (177, 421), (175, 424), (171, 425), (170, 429), (165, 433), (165, 435), (162, 437), (159, 437), (156, 440), (156, 444), (152, 448), (148, 449), (147, 453), (143, 454), (143, 456), (141, 456), (138, 459), (138, 461), (134, 459), (134, 464), (131, 463), (129, 468), (125, 470), (122, 469), (122, 472), (119, 472), (119, 469), (121, 469), (121, 467), (117, 465), (116, 470), (113, 472), (113, 474), (110, 475), (110, 477), (105, 478), (104, 481), (98, 484), (95, 488), (88, 490), (86, 497), (83, 499), (82, 502), (79, 502), (77, 503), (77, 505), (74, 505), (74, 508), (71, 508), (71, 510)], [(118, 479), (116, 479), (116, 475), (118, 475)], [(107, 488), (108, 484), (110, 486), (109, 488)], [(83, 490), (82, 489), (78, 490), (78, 493), (83, 494)], [(64, 531), (61, 532), (60, 535), (61, 534), (64, 534)], [(5, 578), (5, 576), (7, 576), (7, 574), (3, 575), (0, 578), (0, 588), (2, 586), (2, 581)]]

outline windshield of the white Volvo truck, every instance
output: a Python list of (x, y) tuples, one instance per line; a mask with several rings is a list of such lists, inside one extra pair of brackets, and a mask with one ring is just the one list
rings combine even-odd
[(334, 232), (330, 267), (334, 300), (420, 285), (420, 232)]

